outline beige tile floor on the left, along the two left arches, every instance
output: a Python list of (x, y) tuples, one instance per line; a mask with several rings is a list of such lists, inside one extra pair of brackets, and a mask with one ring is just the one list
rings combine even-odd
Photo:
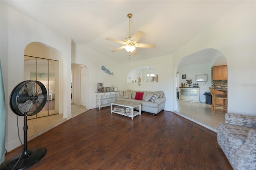
[[(71, 105), (71, 115), (76, 117), (81, 113), (87, 111), (86, 107), (79, 107)], [(47, 117), (40, 117), (37, 119), (31, 119), (27, 121), (28, 124), (28, 141), (39, 136), (40, 134), (54, 128), (61, 123), (65, 122), (66, 119), (62, 118), (63, 114), (51, 115)]]

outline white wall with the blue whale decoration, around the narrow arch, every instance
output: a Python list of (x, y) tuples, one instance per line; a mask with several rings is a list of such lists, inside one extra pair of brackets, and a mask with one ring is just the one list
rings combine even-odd
[[(97, 83), (103, 83), (103, 87), (117, 87), (120, 77), (120, 66), (114, 61), (93, 51), (85, 45), (72, 44), (72, 63), (82, 64), (87, 67), (87, 106), (86, 109), (96, 108)], [(104, 65), (114, 75), (102, 71)]]

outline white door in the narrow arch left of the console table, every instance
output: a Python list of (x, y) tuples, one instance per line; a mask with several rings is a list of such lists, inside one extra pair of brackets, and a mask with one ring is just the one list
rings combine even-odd
[(80, 68), (80, 105), (86, 107), (86, 67)]

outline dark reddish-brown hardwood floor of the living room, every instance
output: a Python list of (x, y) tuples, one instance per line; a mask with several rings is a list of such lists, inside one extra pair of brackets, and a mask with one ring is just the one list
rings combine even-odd
[(131, 120), (92, 109), (28, 142), (33, 148), (47, 154), (29, 170), (232, 170), (215, 132), (168, 111)]

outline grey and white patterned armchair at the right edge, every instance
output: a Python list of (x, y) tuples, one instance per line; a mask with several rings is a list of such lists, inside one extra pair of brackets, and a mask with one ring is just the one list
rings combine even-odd
[(256, 117), (226, 113), (217, 136), (234, 170), (256, 170)]

